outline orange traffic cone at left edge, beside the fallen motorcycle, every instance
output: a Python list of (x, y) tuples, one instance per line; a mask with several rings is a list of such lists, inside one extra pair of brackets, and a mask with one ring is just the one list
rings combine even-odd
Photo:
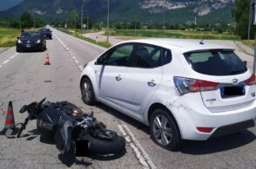
[(12, 132), (15, 131), (15, 120), (14, 120), (14, 114), (13, 114), (12, 101), (9, 101), (5, 125), (1, 133), (5, 134), (8, 129), (11, 129)]

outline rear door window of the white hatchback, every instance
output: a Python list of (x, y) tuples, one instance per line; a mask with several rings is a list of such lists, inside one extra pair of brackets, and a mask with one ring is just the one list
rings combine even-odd
[(139, 44), (135, 52), (133, 67), (137, 68), (157, 68), (162, 63), (161, 48)]

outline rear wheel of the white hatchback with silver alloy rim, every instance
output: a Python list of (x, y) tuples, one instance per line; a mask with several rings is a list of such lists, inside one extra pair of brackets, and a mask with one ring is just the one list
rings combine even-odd
[(150, 119), (150, 132), (152, 140), (159, 146), (171, 151), (179, 150), (182, 141), (179, 127), (170, 112), (164, 108), (153, 111)]

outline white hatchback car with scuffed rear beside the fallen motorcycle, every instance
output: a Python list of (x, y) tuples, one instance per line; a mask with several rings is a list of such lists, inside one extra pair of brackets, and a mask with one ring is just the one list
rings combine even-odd
[(177, 150), (256, 123), (255, 76), (234, 49), (188, 40), (122, 42), (84, 65), (84, 103), (96, 101), (150, 127)]

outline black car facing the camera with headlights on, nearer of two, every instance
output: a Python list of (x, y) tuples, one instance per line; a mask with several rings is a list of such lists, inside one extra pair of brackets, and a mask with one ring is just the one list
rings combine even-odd
[(25, 31), (21, 36), (17, 37), (17, 52), (28, 50), (46, 50), (45, 36), (37, 31)]

